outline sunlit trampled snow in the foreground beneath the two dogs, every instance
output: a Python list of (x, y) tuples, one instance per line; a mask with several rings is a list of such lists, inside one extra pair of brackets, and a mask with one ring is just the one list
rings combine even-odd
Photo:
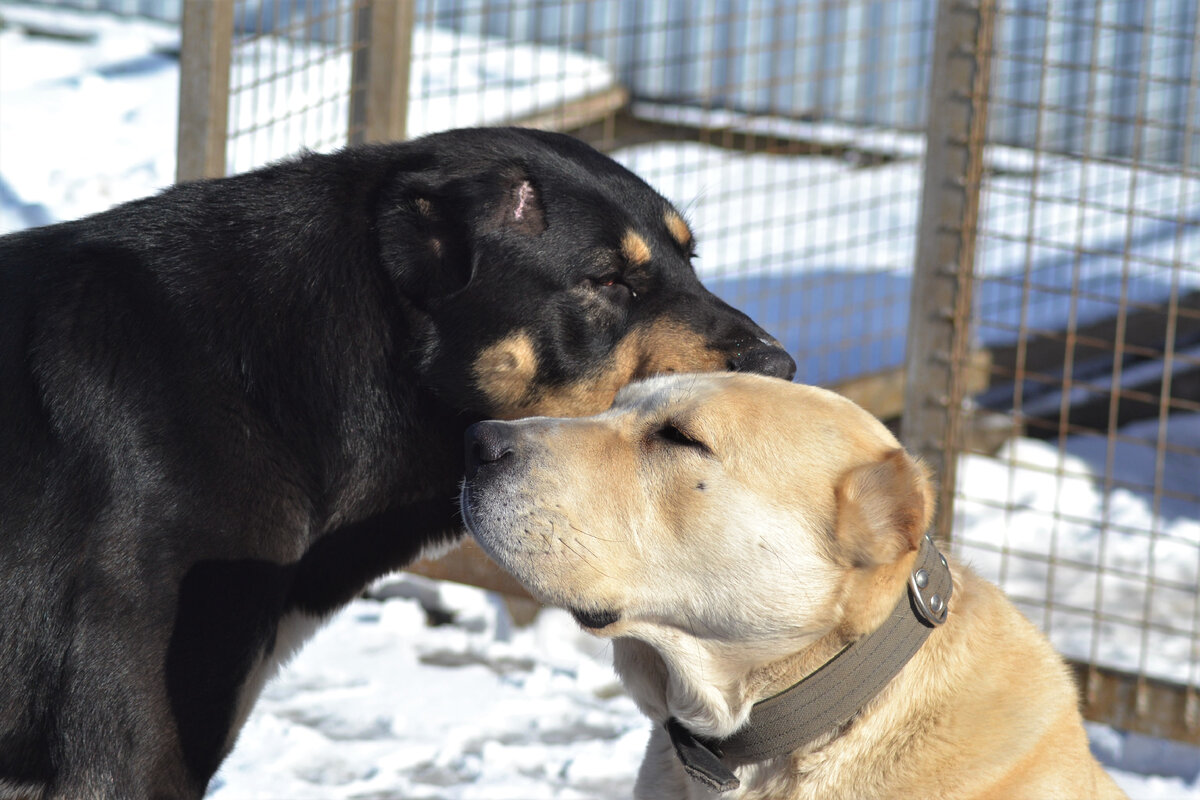
[[(514, 628), (467, 587), (398, 576), (373, 594), (268, 686), (211, 800), (629, 796), (649, 726), (565, 612)], [(421, 602), (455, 621), (430, 627)], [(1090, 733), (1130, 796), (1200, 798), (1195, 748)]]

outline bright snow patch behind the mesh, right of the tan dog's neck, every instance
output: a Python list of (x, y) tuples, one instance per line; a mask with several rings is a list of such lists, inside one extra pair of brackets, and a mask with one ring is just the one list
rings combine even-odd
[[(1103, 438), (1074, 437), (1062, 450), (1016, 439), (994, 458), (964, 457), (955, 546), (1064, 655), (1200, 685), (1195, 637), (1180, 632), (1195, 625), (1200, 503), (1168, 494), (1156, 512), (1152, 492), (1121, 486), (1153, 482), (1157, 425), (1122, 429), (1108, 492)], [(1166, 437), (1200, 450), (1200, 415), (1170, 417)], [(1166, 463), (1162, 488), (1195, 497), (1196, 457), (1166, 457), (1178, 463)]]

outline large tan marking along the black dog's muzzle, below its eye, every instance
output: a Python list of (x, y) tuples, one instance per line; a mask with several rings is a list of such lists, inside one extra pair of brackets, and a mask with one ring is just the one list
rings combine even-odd
[(671, 372), (712, 372), (726, 368), (727, 357), (679, 323), (658, 321), (622, 339), (608, 361), (590, 375), (566, 386), (530, 392), (517, 416), (587, 416), (612, 405), (622, 386)]

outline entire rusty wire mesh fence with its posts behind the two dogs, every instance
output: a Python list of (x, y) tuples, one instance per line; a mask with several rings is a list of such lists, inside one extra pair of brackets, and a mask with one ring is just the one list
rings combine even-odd
[(221, 163), (491, 124), (610, 152), (799, 380), (940, 415), (906, 439), (944, 468), (943, 530), (1080, 664), (1087, 712), (1196, 741), (1196, 12), (238, 0)]

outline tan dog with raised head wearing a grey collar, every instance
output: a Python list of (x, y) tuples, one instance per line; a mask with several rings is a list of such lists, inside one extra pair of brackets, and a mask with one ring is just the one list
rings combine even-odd
[[(658, 378), (598, 416), (480, 423), (467, 446), (469, 529), (612, 638), (656, 723), (638, 798), (1123, 796), (1061, 658), (996, 587), (947, 572), (923, 541), (928, 470), (850, 401), (752, 375)], [(938, 571), (948, 615), (910, 589)], [(842, 721), (760, 760), (709, 752), (895, 619), (919, 632), (916, 654)]]

